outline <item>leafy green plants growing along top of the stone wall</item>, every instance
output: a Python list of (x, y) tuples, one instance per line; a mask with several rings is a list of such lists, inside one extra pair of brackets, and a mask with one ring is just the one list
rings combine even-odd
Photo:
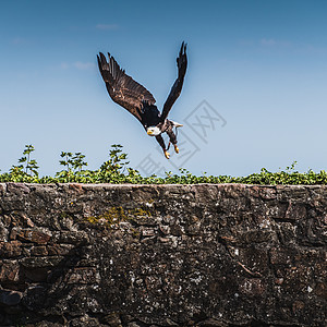
[(133, 183), (133, 184), (199, 184), (199, 183), (243, 183), (243, 184), (305, 184), (320, 185), (327, 184), (327, 173), (325, 170), (316, 173), (313, 170), (307, 172), (295, 171), (294, 161), (286, 170), (270, 172), (263, 168), (259, 173), (252, 173), (247, 177), (231, 175), (203, 175), (196, 177), (186, 169), (180, 169), (175, 174), (171, 171), (166, 172), (165, 178), (153, 174), (152, 177), (142, 177), (141, 173), (128, 167), (130, 164), (128, 155), (122, 152), (119, 144), (111, 145), (109, 159), (105, 161), (98, 170), (86, 170), (87, 162), (84, 161), (85, 155), (82, 153), (62, 152), (59, 164), (63, 170), (57, 172), (55, 177), (39, 177), (38, 166), (35, 159), (32, 159), (34, 152), (33, 145), (26, 145), (23, 150), (23, 157), (19, 159), (17, 166), (12, 166), (9, 172), (0, 173), (0, 182), (25, 182), (25, 183)]

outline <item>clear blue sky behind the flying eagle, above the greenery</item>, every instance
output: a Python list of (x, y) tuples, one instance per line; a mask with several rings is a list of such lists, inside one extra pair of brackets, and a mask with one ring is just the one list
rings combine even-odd
[[(113, 55), (161, 109), (182, 40), (189, 69), (170, 118), (184, 123), (179, 140), (187, 142), (175, 167), (246, 175), (298, 160), (300, 171), (326, 169), (326, 13), (318, 0), (1, 1), (0, 169), (15, 165), (25, 144), (41, 174), (61, 169), (62, 150), (84, 153), (97, 169), (110, 145), (122, 144), (130, 166), (150, 158), (177, 171), (111, 101), (96, 55)], [(203, 100), (220, 121), (206, 118), (204, 105), (194, 111)], [(198, 120), (206, 126), (192, 125)]]

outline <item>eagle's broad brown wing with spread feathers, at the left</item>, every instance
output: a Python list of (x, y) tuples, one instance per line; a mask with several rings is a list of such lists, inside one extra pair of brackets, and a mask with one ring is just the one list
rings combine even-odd
[(117, 61), (108, 53), (108, 62), (104, 53), (99, 53), (98, 64), (107, 90), (111, 99), (123, 108), (128, 109), (134, 117), (142, 121), (140, 110), (143, 104), (154, 105), (154, 96), (141, 84), (121, 70)]

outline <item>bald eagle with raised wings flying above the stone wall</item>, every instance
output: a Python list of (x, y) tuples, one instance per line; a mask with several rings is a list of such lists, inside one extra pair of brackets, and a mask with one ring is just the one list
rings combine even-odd
[(125, 74), (125, 71), (119, 66), (110, 53), (108, 53), (108, 62), (101, 52), (99, 52), (97, 58), (101, 76), (111, 99), (129, 110), (142, 123), (147, 135), (156, 137), (167, 159), (169, 159), (170, 155), (161, 136), (162, 133), (166, 132), (168, 134), (178, 154), (179, 148), (173, 128), (182, 126), (182, 124), (169, 120), (167, 117), (182, 90), (187, 66), (186, 44), (182, 43), (179, 57), (177, 58), (178, 77), (171, 87), (161, 112), (155, 106), (156, 100), (154, 96), (144, 86)]

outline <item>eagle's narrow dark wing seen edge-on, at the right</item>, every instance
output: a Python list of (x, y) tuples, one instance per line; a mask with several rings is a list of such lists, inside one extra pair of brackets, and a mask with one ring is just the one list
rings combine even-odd
[(172, 105), (177, 100), (177, 98), (180, 96), (182, 86), (184, 83), (184, 76), (186, 73), (186, 66), (187, 66), (187, 57), (186, 57), (186, 44), (184, 41), (182, 43), (179, 57), (177, 58), (178, 69), (179, 69), (179, 75), (174, 82), (174, 84), (171, 87), (170, 94), (164, 105), (164, 109), (161, 112), (161, 121), (165, 121), (167, 118)]

